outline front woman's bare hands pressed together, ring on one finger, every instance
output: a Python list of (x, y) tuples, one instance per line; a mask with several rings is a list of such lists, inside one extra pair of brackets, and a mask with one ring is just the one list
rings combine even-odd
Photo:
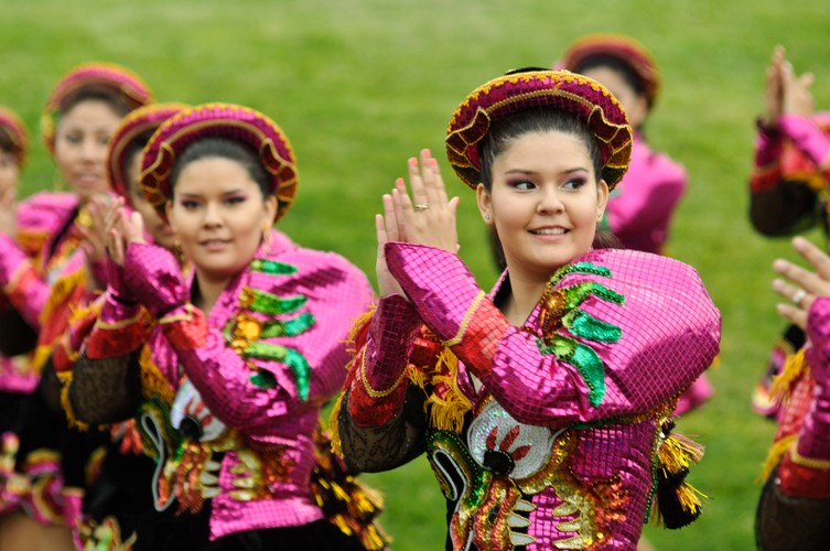
[[(386, 266), (385, 245), (403, 241), (427, 245), (451, 252), (459, 250), (455, 212), (459, 197), (448, 198), (438, 161), (422, 150), (419, 161), (408, 161), (409, 191), (403, 179), (395, 182), (390, 194), (384, 195), (384, 214), (375, 216), (377, 233), (377, 280), (380, 296), (403, 292)], [(410, 196), (411, 193), (411, 196)]]

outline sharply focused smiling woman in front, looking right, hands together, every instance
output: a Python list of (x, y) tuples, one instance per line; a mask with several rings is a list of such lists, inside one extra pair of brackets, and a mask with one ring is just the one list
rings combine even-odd
[(718, 350), (720, 313), (690, 267), (591, 248), (630, 138), (616, 99), (569, 72), (470, 94), (446, 152), (504, 245), (491, 293), (456, 255), (457, 198), (429, 151), (384, 197), (382, 298), (332, 419), (356, 468), (425, 452), (448, 550), (635, 549), (649, 518), (700, 515), (685, 482), (700, 451), (670, 418)]

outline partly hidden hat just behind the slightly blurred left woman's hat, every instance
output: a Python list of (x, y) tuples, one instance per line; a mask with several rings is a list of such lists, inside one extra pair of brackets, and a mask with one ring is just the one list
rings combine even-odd
[[(129, 197), (129, 182), (126, 181), (127, 163), (130, 162), (130, 152), (133, 143), (139, 138), (150, 139), (162, 122), (179, 115), (187, 106), (184, 104), (149, 104), (139, 107), (121, 120), (118, 130), (109, 140), (107, 150), (107, 176), (112, 190), (122, 197)], [(142, 147), (145, 143), (141, 144)]]

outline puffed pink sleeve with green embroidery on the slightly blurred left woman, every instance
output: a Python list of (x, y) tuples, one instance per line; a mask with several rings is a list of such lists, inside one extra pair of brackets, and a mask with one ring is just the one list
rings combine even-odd
[(176, 354), (223, 422), (270, 433), (276, 420), (316, 409), (342, 388), (346, 338), (370, 302), (368, 280), (345, 259), (297, 249), (279, 262), (255, 261), (225, 327)]

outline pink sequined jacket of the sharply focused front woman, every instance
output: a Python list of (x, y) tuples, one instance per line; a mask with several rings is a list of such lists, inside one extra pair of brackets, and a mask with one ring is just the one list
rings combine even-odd
[(384, 471), (425, 451), (448, 549), (636, 548), (664, 421), (718, 352), (697, 272), (593, 250), (516, 327), (494, 304), (507, 274), (485, 295), (455, 255), (394, 242), (386, 258), (409, 301), (384, 298), (357, 335), (334, 413), (347, 462)]

